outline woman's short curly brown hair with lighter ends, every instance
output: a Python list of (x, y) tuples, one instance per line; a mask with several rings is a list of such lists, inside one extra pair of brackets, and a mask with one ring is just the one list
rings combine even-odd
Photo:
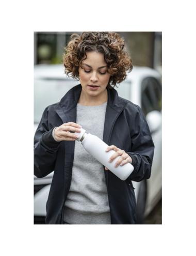
[(133, 69), (132, 59), (123, 50), (124, 39), (115, 32), (83, 32), (81, 35), (72, 34), (71, 40), (64, 48), (63, 64), (65, 73), (79, 79), (81, 61), (87, 58), (86, 52), (96, 51), (104, 54), (110, 79), (108, 88), (126, 79), (126, 72)]

